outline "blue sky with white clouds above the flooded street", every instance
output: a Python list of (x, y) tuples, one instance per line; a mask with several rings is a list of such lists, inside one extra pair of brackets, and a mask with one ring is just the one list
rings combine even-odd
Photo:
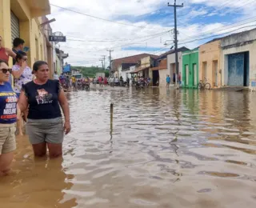
[[(101, 66), (99, 59), (103, 55), (109, 58), (106, 51), (109, 49), (114, 50), (112, 58), (162, 54), (170, 49), (173, 46), (174, 9), (168, 7), (167, 2), (50, 0), (48, 18), (56, 19), (51, 23), (54, 32), (61, 31), (66, 35), (67, 41), (59, 43), (60, 49), (70, 55), (66, 62), (73, 66)], [(192, 49), (218, 37), (216, 35), (256, 27), (256, 0), (177, 2), (184, 3), (184, 7), (177, 10), (179, 46)], [(168, 46), (164, 46), (165, 42)]]

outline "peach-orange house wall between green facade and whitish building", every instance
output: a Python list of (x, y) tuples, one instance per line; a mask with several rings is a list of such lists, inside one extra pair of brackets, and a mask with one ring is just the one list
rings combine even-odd
[(210, 86), (221, 86), (221, 42), (215, 41), (199, 47), (199, 80), (207, 79)]

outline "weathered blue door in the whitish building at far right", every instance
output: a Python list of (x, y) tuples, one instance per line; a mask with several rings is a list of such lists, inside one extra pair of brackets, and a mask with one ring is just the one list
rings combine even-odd
[(230, 54), (228, 57), (228, 86), (244, 86), (245, 53)]

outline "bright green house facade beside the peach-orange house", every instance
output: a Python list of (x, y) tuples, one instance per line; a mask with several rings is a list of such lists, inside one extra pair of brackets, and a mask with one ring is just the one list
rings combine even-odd
[(199, 54), (198, 48), (182, 52), (182, 86), (198, 88), (199, 83)]

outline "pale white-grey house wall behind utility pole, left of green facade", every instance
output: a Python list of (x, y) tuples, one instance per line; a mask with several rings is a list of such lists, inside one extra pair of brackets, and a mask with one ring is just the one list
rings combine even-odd
[[(182, 52), (178, 52), (178, 71), (181, 73), (182, 78)], [(170, 75), (171, 82), (174, 72), (176, 72), (176, 66), (175, 66), (175, 54), (169, 54), (167, 56), (167, 72)]]

